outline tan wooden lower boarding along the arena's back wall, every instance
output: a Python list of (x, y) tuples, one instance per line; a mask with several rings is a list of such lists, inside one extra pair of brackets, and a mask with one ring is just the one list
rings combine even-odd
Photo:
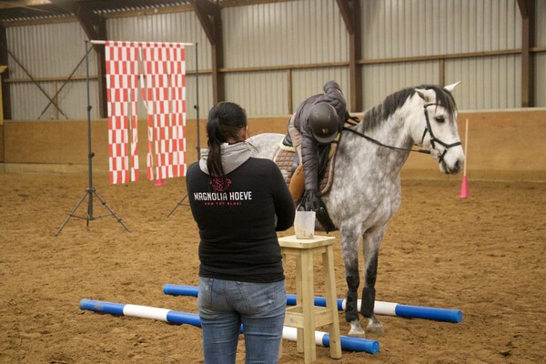
[[(516, 178), (546, 181), (546, 109), (503, 112), (460, 113), (459, 129), (464, 142), (465, 120), (470, 120), (468, 175), (483, 178)], [(286, 133), (288, 116), (249, 120), (251, 135)], [(207, 120), (200, 120), (200, 146), (207, 147)], [(146, 169), (146, 121), (139, 122), (140, 169)], [(66, 165), (75, 170), (87, 164), (86, 121), (11, 122), (5, 121), (5, 169), (10, 165)], [(107, 172), (106, 120), (92, 122), (94, 171)], [(187, 160), (197, 160), (197, 126), (187, 121)], [(28, 166), (27, 166), (28, 167)], [(28, 169), (28, 168), (27, 168)], [(51, 168), (50, 168), (51, 169)], [(69, 168), (68, 168), (69, 169)], [(441, 178), (438, 164), (429, 156), (411, 154), (402, 176)], [(460, 178), (460, 175), (452, 177)]]

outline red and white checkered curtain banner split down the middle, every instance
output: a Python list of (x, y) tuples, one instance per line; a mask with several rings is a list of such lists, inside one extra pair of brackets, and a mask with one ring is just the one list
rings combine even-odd
[[(147, 108), (147, 178), (186, 175), (186, 61), (176, 43), (106, 42), (110, 183), (138, 179), (138, 77)], [(127, 151), (131, 131), (130, 167)], [(154, 173), (155, 172), (155, 173)]]

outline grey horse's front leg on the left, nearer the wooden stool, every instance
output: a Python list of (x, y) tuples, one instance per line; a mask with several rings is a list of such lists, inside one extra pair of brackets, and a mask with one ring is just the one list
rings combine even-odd
[(353, 227), (340, 228), (341, 252), (345, 263), (345, 279), (347, 281), (345, 319), (349, 322), (349, 336), (365, 338), (366, 331), (359, 323), (359, 232)]

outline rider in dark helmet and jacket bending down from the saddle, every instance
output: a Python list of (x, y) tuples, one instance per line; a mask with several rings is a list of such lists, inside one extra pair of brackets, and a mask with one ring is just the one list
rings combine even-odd
[(300, 160), (290, 181), (290, 192), (296, 201), (301, 197), (301, 187), (298, 186), (301, 179), (298, 177), (301, 177), (302, 168), (305, 179), (305, 194), (299, 208), (318, 211), (323, 206), (318, 196), (319, 146), (329, 145), (338, 136), (348, 116), (341, 87), (336, 81), (328, 81), (324, 85), (324, 94), (310, 96), (290, 118), (288, 133)]

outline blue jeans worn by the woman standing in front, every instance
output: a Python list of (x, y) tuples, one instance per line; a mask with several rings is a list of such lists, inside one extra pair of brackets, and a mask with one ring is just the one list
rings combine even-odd
[(276, 364), (287, 307), (284, 280), (249, 283), (199, 277), (205, 364), (233, 364), (241, 324), (246, 363)]

